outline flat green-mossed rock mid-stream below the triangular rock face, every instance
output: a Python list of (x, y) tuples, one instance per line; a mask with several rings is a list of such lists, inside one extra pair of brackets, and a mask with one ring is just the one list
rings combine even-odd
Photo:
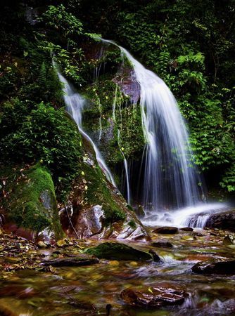
[(87, 249), (86, 253), (94, 255), (97, 258), (112, 260), (153, 260), (151, 254), (139, 249), (135, 249), (132, 246), (128, 246), (127, 244), (121, 244), (120, 242), (103, 242), (102, 244), (99, 244), (99, 246)]

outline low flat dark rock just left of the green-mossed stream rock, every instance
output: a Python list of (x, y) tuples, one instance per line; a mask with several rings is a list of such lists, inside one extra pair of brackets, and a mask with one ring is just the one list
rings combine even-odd
[(94, 263), (99, 263), (99, 259), (94, 256), (89, 256), (87, 254), (79, 254), (74, 257), (65, 258), (53, 258), (50, 260), (42, 261), (41, 265), (48, 267), (52, 265), (53, 267), (65, 267), (65, 266), (80, 266), (80, 265), (92, 265)]

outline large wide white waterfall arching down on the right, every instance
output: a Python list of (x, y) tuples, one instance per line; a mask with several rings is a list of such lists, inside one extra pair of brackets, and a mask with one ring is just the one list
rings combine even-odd
[[(114, 44), (113, 41), (103, 40)], [(170, 89), (122, 46), (139, 84), (141, 120), (146, 139), (143, 202), (145, 209), (179, 209), (201, 201), (203, 189), (193, 163), (184, 119)]]

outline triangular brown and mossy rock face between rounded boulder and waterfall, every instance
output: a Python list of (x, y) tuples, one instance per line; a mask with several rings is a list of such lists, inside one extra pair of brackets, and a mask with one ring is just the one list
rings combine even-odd
[(94, 162), (92, 154), (84, 155), (80, 170), (70, 194), (68, 213), (65, 209), (60, 211), (63, 229), (69, 236), (150, 239), (132, 208)]

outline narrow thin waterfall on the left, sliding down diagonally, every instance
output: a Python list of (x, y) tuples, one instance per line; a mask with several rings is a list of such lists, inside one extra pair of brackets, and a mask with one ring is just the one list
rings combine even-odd
[[(58, 72), (58, 70), (57, 70)], [(64, 92), (64, 100), (65, 105), (67, 106), (67, 111), (71, 115), (71, 117), (75, 120), (77, 124), (77, 128), (79, 129), (80, 133), (84, 138), (86, 138), (89, 143), (94, 148), (94, 152), (96, 154), (96, 160), (101, 167), (101, 170), (106, 175), (106, 178), (112, 183), (115, 187), (115, 181), (113, 179), (112, 173), (106, 166), (106, 162), (104, 161), (101, 152), (99, 151), (98, 147), (95, 145), (94, 141), (91, 140), (90, 136), (82, 129), (82, 110), (86, 104), (86, 100), (77, 93), (74, 88), (68, 83), (68, 81), (63, 77), (63, 75), (58, 72), (58, 77), (63, 84), (63, 92)]]

